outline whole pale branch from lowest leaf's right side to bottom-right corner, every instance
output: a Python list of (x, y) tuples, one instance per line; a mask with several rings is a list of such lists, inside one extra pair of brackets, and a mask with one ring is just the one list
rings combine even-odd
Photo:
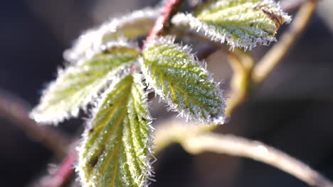
[[(189, 128), (196, 127), (196, 128)], [(278, 149), (263, 144), (262, 142), (247, 140), (233, 135), (218, 135), (213, 132), (202, 134), (201, 128), (205, 125), (184, 125), (181, 120), (171, 120), (157, 126), (155, 130), (155, 154), (166, 147), (172, 140), (181, 144), (187, 152), (199, 154), (202, 152), (216, 152), (237, 157), (255, 159), (276, 167), (282, 171), (305, 181), (310, 186), (328, 187), (332, 182), (300, 162)]]

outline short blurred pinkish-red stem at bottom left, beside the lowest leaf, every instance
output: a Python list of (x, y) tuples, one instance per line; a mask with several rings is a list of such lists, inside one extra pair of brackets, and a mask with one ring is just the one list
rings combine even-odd
[(56, 174), (51, 176), (51, 179), (48, 181), (46, 187), (60, 187), (64, 186), (68, 182), (70, 176), (74, 174), (74, 163), (76, 162), (78, 152), (73, 151), (68, 154), (63, 162), (59, 165)]

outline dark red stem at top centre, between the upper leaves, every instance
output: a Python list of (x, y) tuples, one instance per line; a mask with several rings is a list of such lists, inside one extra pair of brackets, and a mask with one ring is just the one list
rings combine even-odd
[[(155, 24), (147, 35), (146, 41), (149, 42), (157, 38), (157, 36), (165, 33), (166, 29), (170, 26), (170, 19), (179, 10), (179, 7), (184, 0), (169, 0), (163, 7), (161, 15), (155, 21)], [(144, 48), (144, 46), (142, 47)]]

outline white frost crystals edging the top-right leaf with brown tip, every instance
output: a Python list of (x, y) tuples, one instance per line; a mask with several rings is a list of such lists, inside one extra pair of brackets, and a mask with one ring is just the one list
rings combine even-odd
[[(233, 1), (233, 0), (224, 0), (224, 1)], [(288, 16), (287, 13), (282, 11), (280, 8), (280, 3), (276, 3), (273, 0), (264, 0), (262, 2), (258, 2), (255, 6), (266, 6), (270, 8), (271, 12), (277, 12), (285, 19), (285, 23), (290, 23), (292, 18)], [(263, 10), (268, 11), (268, 8), (263, 8)], [(275, 42), (276, 38), (273, 36), (268, 36), (265, 38), (256, 38), (255, 41), (251, 41), (247, 35), (247, 38), (242, 39), (233, 39), (231, 34), (226, 32), (221, 28), (216, 28), (216, 26), (209, 25), (203, 21), (200, 21), (199, 18), (194, 17), (191, 13), (177, 13), (171, 19), (171, 23), (176, 26), (189, 26), (191, 30), (196, 31), (200, 35), (204, 37), (210, 38), (215, 42), (227, 42), (228, 45), (231, 46), (231, 49), (234, 47), (243, 47), (245, 50), (252, 49), (256, 45), (269, 45), (270, 42)]]

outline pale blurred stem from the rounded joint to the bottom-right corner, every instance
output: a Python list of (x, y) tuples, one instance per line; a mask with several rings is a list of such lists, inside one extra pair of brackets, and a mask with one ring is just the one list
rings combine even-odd
[(333, 186), (331, 181), (317, 171), (314, 171), (314, 169), (311, 169), (307, 164), (262, 142), (247, 140), (243, 137), (233, 135), (218, 135), (210, 132), (205, 135), (188, 138), (182, 142), (182, 145), (186, 151), (193, 154), (216, 152), (218, 154), (229, 154), (236, 157), (254, 159), (258, 162), (263, 162), (277, 169), (281, 169), (305, 181), (310, 186)]

